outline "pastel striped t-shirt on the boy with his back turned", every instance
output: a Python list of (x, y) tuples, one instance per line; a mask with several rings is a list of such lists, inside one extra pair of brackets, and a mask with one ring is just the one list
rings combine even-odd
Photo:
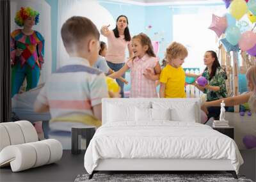
[(52, 73), (37, 100), (49, 105), (54, 119), (93, 116), (92, 107), (107, 97), (104, 73), (90, 67), (86, 59), (71, 57), (64, 66)]

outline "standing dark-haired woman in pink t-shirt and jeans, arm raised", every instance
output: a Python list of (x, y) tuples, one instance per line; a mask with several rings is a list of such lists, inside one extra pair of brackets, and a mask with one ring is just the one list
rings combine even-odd
[[(108, 52), (106, 61), (109, 68), (117, 72), (125, 63), (125, 48), (128, 47), (129, 57), (132, 57), (131, 35), (128, 28), (128, 19), (125, 15), (120, 15), (116, 19), (116, 27), (112, 31), (108, 26), (102, 26), (100, 33), (108, 38)], [(124, 75), (120, 75), (125, 78)], [(124, 97), (124, 82), (116, 80), (121, 87), (121, 96)]]

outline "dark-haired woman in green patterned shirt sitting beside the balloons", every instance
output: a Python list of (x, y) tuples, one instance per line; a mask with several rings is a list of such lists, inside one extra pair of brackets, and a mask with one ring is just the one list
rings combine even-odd
[[(206, 86), (199, 86), (194, 82), (193, 85), (207, 95), (207, 102), (226, 98), (227, 89), (225, 80), (227, 79), (227, 76), (220, 66), (216, 52), (212, 50), (205, 52), (204, 64), (206, 65), (206, 68), (202, 73), (202, 76), (207, 79), (208, 84)], [(208, 107), (207, 116), (208, 119), (212, 117), (218, 119), (220, 116), (220, 104)]]

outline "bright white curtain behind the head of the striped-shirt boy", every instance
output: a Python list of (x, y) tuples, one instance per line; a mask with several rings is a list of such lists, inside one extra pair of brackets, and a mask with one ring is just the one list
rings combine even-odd
[[(68, 59), (68, 54), (61, 40), (61, 26), (72, 16), (87, 17), (97, 26), (110, 24), (110, 29), (115, 27), (115, 20), (106, 8), (96, 0), (60, 0), (58, 1), (58, 38), (57, 38), (57, 69)], [(106, 38), (100, 36), (100, 40), (106, 42)]]

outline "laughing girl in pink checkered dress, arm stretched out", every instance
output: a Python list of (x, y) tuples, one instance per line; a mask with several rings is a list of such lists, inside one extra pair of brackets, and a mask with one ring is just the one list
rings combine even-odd
[(116, 79), (127, 70), (131, 70), (131, 98), (157, 98), (156, 80), (159, 80), (161, 66), (147, 34), (140, 33), (132, 37), (134, 57), (109, 77)]

